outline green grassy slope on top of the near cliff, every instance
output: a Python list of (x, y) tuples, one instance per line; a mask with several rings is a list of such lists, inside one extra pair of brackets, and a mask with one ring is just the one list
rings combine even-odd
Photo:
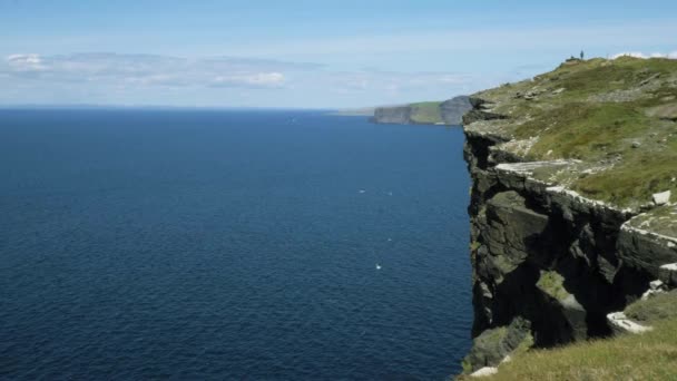
[(677, 196), (677, 60), (571, 60), (532, 80), (473, 96), (487, 113), (471, 130), (510, 139), (527, 160), (580, 163), (537, 174), (618, 206)]

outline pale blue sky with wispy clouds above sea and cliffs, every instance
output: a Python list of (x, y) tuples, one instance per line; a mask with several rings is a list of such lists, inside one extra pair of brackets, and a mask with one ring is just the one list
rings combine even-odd
[(675, 36), (675, 0), (0, 0), (0, 106), (441, 100)]

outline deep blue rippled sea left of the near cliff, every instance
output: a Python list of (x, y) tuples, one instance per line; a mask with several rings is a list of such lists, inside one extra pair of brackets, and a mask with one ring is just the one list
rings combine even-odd
[(0, 110), (0, 379), (458, 372), (462, 141), (310, 111)]

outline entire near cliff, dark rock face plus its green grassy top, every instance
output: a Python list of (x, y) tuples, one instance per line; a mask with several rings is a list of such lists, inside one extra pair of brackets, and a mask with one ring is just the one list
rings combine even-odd
[(610, 314), (677, 286), (677, 61), (572, 60), (470, 102), (467, 373), (610, 336)]

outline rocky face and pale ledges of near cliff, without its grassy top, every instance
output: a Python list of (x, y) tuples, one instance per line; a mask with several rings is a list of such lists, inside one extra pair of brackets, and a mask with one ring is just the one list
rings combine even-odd
[[(605, 162), (551, 157), (551, 150), (539, 157), (531, 149), (548, 133), (523, 138), (514, 133), (524, 116), (511, 111), (534, 106), (521, 88), (539, 85), (527, 81), (510, 91), (478, 94), (464, 118), (474, 304), (467, 372), (496, 367), (531, 346), (610, 335), (608, 314), (640, 297), (654, 280), (677, 281), (665, 266), (677, 262), (677, 205), (625, 201), (620, 207), (581, 196), (562, 178), (586, 177), (593, 166), (610, 170)], [(538, 106), (548, 113), (557, 107)], [(536, 110), (523, 120), (538, 117)], [(677, 172), (677, 162), (673, 164)], [(622, 184), (620, 176), (618, 180)]]

